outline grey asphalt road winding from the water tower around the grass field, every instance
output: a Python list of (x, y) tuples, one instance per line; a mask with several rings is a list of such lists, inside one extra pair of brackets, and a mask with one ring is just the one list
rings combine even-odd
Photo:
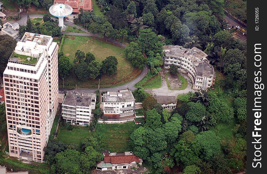
[[(27, 22), (27, 15), (28, 14), (20, 14), (20, 20), (19, 21), (16, 21), (19, 25), (26, 25), (26, 22)], [(40, 14), (29, 14), (29, 17), (30, 18), (43, 18), (43, 15), (40, 15)], [(56, 19), (56, 18), (52, 18), (51, 19)], [(15, 21), (10, 21), (11, 23), (15, 23)], [(86, 31), (85, 28), (82, 28), (82, 27), (79, 27), (69, 21), (64, 21), (64, 24), (66, 25), (69, 25), (69, 26), (76, 26), (76, 28), (81, 28), (82, 31)], [(98, 34), (94, 35), (92, 33), (72, 33), (72, 32), (62, 32), (62, 33), (65, 33), (65, 35), (77, 35), (77, 36), (95, 36), (95, 37), (98, 37)], [(107, 41), (117, 45), (117, 46), (121, 46), (123, 48), (126, 47), (125, 44), (121, 44), (119, 43), (118, 41), (115, 41), (115, 40), (112, 40), (112, 39), (109, 39), (109, 38), (106, 38), (104, 37), (103, 38), (104, 40), (107, 39)], [(109, 87), (109, 88), (101, 88), (100, 86), (100, 91), (118, 91), (118, 90), (121, 90), (121, 89), (127, 89), (129, 88), (130, 90), (135, 90), (136, 88), (134, 87), (135, 84), (137, 84), (140, 80), (142, 80), (146, 74), (147, 74), (147, 71), (148, 71), (148, 68), (149, 66), (146, 65), (146, 67), (142, 70), (142, 72), (135, 78), (133, 79), (132, 81), (126, 83), (126, 84), (123, 84), (121, 86), (116, 86), (116, 87)], [(88, 92), (88, 93), (93, 93), (94, 91), (96, 91), (98, 88), (79, 88), (80, 91), (84, 91), (84, 92)], [(66, 92), (67, 90), (75, 90), (75, 89), (70, 89), (70, 88), (59, 88), (59, 93), (64, 93)]]

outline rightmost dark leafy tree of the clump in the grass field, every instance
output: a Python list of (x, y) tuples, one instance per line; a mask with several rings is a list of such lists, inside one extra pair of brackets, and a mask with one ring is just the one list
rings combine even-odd
[(118, 60), (115, 56), (109, 56), (102, 61), (102, 73), (107, 75), (116, 75)]

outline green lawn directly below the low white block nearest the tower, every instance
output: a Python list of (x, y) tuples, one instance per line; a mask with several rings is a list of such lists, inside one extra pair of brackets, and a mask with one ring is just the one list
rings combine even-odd
[(57, 141), (62, 141), (67, 144), (78, 144), (78, 151), (80, 152), (82, 151), (82, 140), (93, 135), (93, 132), (90, 132), (89, 129), (83, 127), (75, 127), (72, 131), (68, 131), (65, 127), (59, 126), (58, 133), (59, 135), (56, 137)]

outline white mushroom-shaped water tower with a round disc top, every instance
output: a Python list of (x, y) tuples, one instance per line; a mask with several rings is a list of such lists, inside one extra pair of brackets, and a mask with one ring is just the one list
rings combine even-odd
[(72, 7), (67, 4), (54, 4), (49, 8), (49, 13), (59, 18), (59, 27), (63, 28), (63, 18), (72, 14)]

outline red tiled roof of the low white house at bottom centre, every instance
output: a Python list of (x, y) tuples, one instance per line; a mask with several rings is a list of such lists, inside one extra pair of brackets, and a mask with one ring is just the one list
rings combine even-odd
[(139, 162), (139, 158), (135, 155), (118, 155), (118, 156), (105, 156), (104, 162), (111, 164), (120, 164), (120, 163), (131, 163), (137, 161)]

